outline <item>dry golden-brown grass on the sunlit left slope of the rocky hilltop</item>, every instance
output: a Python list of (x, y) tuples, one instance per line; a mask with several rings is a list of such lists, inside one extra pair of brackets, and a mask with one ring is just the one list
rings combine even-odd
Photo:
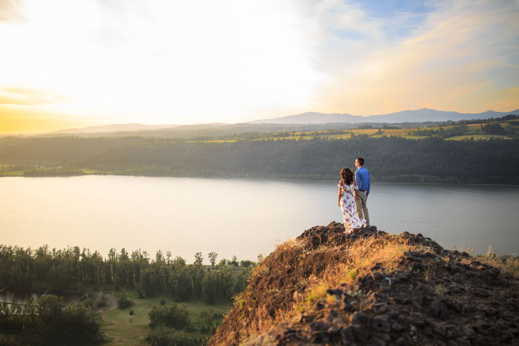
[[(235, 309), (229, 313), (235, 322), (224, 323), (220, 335), (243, 342), (290, 321), (317, 302), (334, 307), (339, 301), (327, 289), (373, 275), (375, 265), (392, 272), (405, 253), (414, 250), (415, 246), (390, 234), (311, 250), (299, 239), (288, 239), (258, 265), (251, 284), (236, 297)], [(211, 343), (220, 342), (229, 340), (216, 337)]]

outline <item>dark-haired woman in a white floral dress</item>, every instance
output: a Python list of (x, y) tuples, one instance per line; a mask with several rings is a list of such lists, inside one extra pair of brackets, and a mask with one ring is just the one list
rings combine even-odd
[(343, 168), (340, 171), (339, 197), (337, 205), (343, 209), (344, 233), (349, 234), (353, 229), (366, 226), (366, 220), (359, 219), (355, 208), (355, 198), (357, 198), (357, 185), (353, 179), (353, 171)]

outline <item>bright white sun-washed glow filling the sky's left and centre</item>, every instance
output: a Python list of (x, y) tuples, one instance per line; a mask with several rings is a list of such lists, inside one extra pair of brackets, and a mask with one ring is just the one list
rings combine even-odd
[[(2, 28), (2, 84), (53, 90), (75, 109), (171, 122), (305, 107), (317, 79), (291, 2), (32, 2)], [(4, 69), (11, 66), (9, 69)], [(281, 115), (281, 114), (280, 114)], [(203, 118), (201, 118), (203, 116)], [(133, 119), (132, 119), (133, 120)]]

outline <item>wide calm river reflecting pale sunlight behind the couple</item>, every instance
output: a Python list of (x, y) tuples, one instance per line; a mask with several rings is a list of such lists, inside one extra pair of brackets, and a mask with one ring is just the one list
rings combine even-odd
[[(155, 257), (255, 260), (315, 225), (342, 222), (336, 182), (124, 176), (0, 178), (0, 244)], [(519, 251), (519, 187), (373, 183), (371, 224), (444, 248)]]

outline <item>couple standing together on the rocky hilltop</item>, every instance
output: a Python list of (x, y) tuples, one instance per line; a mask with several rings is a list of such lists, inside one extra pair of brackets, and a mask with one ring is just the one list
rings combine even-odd
[(344, 233), (351, 233), (353, 229), (368, 227), (370, 216), (367, 214), (367, 195), (370, 194), (370, 172), (364, 168), (364, 159), (355, 160), (357, 171), (343, 168), (340, 171), (339, 197), (337, 205), (343, 210)]

